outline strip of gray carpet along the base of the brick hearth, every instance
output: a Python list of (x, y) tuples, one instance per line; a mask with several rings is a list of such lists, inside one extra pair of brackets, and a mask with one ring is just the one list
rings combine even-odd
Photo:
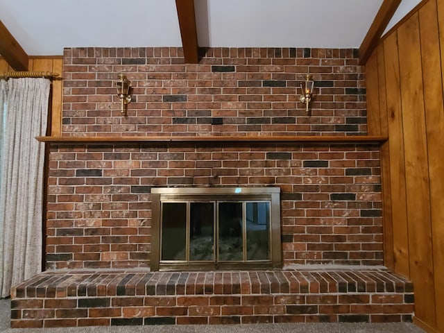
[(10, 328), (10, 300), (0, 300), (0, 333), (424, 333), (411, 323), (309, 323), (256, 325), (161, 325), (76, 328)]

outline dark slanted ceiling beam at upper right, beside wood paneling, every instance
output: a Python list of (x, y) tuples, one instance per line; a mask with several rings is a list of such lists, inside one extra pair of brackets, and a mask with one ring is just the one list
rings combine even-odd
[(366, 37), (362, 41), (361, 46), (359, 46), (359, 63), (361, 65), (366, 65), (368, 58), (370, 58), (370, 55), (376, 48), (379, 38), (381, 38), (400, 3), (401, 0), (384, 0), (382, 3), (372, 25), (368, 29)]

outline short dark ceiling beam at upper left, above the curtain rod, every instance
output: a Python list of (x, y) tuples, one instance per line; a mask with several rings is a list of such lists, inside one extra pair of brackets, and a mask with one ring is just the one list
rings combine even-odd
[(0, 21), (0, 54), (15, 71), (28, 70), (28, 55)]

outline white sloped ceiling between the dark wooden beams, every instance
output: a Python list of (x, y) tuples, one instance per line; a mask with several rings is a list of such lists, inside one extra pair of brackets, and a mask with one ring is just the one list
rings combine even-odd
[[(402, 0), (391, 26), (420, 0)], [(382, 0), (194, 0), (199, 46), (358, 48)], [(175, 0), (0, 0), (29, 56), (65, 47), (182, 46)]]

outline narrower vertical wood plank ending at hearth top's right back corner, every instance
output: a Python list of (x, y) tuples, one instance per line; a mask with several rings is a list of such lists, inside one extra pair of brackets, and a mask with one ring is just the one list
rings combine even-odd
[[(390, 155), (394, 266), (396, 272), (409, 277), (409, 230), (407, 226), (404, 135), (402, 129), (398, 37), (396, 33), (384, 40), (384, 62), (386, 86), (390, 87), (388, 94), (386, 94), (386, 122), (388, 125), (388, 149)], [(383, 161), (385, 165), (387, 162), (386, 160)]]

